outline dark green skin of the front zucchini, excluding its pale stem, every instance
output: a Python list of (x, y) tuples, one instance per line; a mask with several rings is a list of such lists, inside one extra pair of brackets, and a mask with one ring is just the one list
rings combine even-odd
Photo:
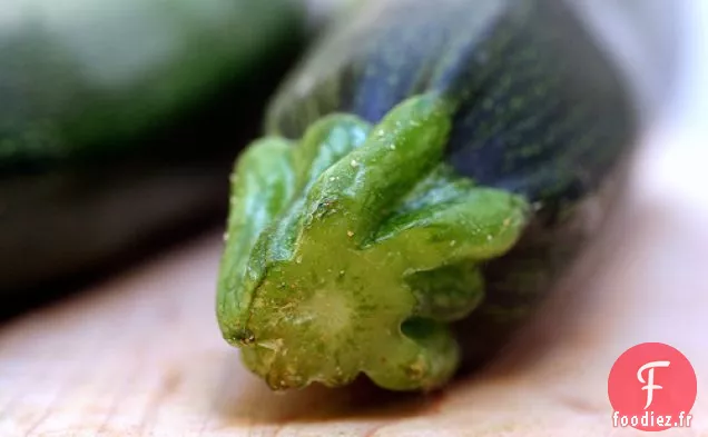
[(535, 207), (517, 247), (484, 267), (485, 300), (459, 324), (466, 361), (479, 364), (598, 229), (587, 226), (588, 208), (638, 128), (627, 89), (563, 0), (383, 1), (312, 51), (274, 100), (267, 133), (297, 139), (340, 111), (377, 122), (426, 91), (458, 103), (448, 162)]

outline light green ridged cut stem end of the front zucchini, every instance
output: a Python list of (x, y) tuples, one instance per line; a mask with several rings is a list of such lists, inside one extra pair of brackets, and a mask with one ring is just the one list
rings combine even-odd
[(482, 301), (481, 264), (514, 246), (530, 209), (443, 163), (451, 113), (417, 96), (377, 126), (332, 115), (239, 159), (218, 318), (272, 388), (364, 373), (432, 389), (454, 374), (446, 324)]

